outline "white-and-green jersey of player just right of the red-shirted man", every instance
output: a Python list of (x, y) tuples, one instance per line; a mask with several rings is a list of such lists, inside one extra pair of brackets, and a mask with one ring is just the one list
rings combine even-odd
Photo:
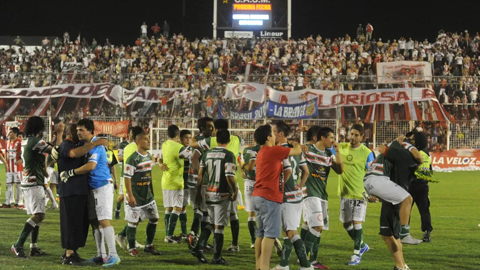
[[(288, 143), (284, 143), (282, 146), (292, 147)], [(284, 159), (284, 171), (286, 170), (285, 164), (287, 164), (287, 168), (291, 170), (291, 175), (287, 181), (284, 181), (284, 200), (282, 203), (301, 203), (303, 201), (303, 194), (298, 185), (298, 174), (300, 173), (300, 166), (307, 165), (307, 161), (303, 154), (301, 154)]]

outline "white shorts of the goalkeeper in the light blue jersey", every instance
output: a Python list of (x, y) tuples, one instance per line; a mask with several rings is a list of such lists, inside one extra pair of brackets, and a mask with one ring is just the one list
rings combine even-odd
[(113, 184), (93, 189), (88, 198), (89, 220), (111, 220), (113, 213)]

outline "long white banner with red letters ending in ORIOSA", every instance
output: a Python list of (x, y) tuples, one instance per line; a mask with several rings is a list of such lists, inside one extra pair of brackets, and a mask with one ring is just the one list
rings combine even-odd
[(246, 98), (263, 102), (266, 95), (274, 102), (298, 104), (318, 98), (318, 107), (365, 106), (374, 104), (405, 103), (411, 101), (438, 101), (433, 90), (413, 89), (376, 89), (365, 91), (328, 91), (305, 89), (291, 92), (275, 90), (262, 84), (228, 84), (225, 98)]

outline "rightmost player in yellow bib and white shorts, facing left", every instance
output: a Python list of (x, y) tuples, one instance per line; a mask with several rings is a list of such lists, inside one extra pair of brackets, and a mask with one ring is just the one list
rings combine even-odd
[[(369, 247), (363, 242), (362, 222), (365, 222), (367, 201), (364, 199), (365, 187), (363, 178), (366, 170), (375, 159), (375, 155), (367, 146), (361, 143), (365, 129), (355, 124), (348, 134), (350, 142), (339, 143), (343, 173), (338, 181), (338, 196), (340, 196), (340, 222), (353, 239), (353, 255), (348, 265), (360, 264), (362, 255)], [(372, 198), (375, 200), (375, 198)]]

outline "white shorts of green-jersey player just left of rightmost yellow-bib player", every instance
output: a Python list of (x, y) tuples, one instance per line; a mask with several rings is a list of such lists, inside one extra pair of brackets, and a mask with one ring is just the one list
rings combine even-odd
[(328, 202), (319, 198), (309, 197), (303, 200), (303, 221), (308, 227), (323, 226), (324, 230), (329, 229)]

